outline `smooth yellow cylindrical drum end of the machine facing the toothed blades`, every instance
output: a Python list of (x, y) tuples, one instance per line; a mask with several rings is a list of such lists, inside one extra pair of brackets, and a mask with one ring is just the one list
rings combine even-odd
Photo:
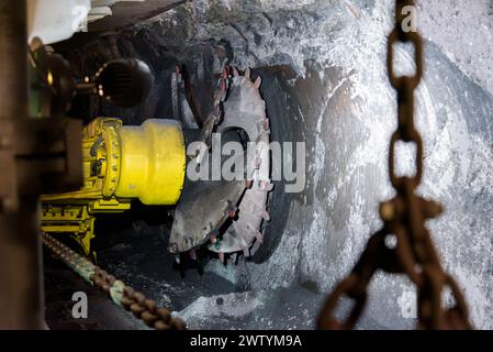
[(181, 127), (173, 120), (146, 120), (141, 127), (119, 129), (120, 179), (114, 195), (138, 198), (145, 205), (175, 205), (181, 195), (186, 147)]

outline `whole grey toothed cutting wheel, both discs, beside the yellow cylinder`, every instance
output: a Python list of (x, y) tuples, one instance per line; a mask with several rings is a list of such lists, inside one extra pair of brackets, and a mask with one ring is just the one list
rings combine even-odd
[[(224, 117), (216, 132), (224, 134), (240, 129), (249, 142), (256, 142), (242, 161), (247, 182), (187, 179), (175, 212), (170, 252), (189, 251), (211, 240), (209, 249), (224, 257), (223, 253), (248, 253), (256, 240), (261, 242), (260, 226), (268, 219), (266, 204), (271, 189), (269, 123), (258, 90), (260, 78), (253, 82), (249, 69), (245, 76), (234, 73), (228, 97), (223, 103)], [(235, 220), (224, 231), (223, 226), (233, 215)], [(220, 229), (224, 232), (220, 233)]]

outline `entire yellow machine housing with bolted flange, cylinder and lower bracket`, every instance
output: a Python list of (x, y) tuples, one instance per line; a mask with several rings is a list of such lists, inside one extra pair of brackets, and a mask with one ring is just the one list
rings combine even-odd
[(132, 199), (144, 205), (175, 205), (184, 182), (186, 147), (175, 120), (146, 120), (123, 127), (98, 118), (82, 131), (83, 187), (42, 196), (42, 230), (70, 233), (88, 256), (94, 215), (123, 212)]

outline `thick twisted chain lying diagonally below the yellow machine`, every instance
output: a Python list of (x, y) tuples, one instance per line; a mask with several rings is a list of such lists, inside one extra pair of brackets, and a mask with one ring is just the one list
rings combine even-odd
[(136, 318), (143, 320), (146, 326), (156, 330), (186, 329), (184, 322), (177, 317), (172, 317), (167, 308), (158, 307), (155, 300), (148, 299), (142, 293), (134, 290), (131, 286), (126, 286), (122, 280), (108, 274), (53, 237), (42, 233), (42, 241), (76, 273), (90, 284), (101, 288), (116, 305), (131, 311)]

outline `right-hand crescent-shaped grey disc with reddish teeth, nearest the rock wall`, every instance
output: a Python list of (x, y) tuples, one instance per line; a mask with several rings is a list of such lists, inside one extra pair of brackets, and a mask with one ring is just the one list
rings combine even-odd
[(267, 212), (268, 193), (272, 189), (270, 183), (270, 127), (266, 116), (266, 105), (259, 86), (260, 77), (255, 82), (250, 80), (249, 69), (245, 76), (235, 75), (232, 91), (224, 105), (224, 121), (219, 131), (240, 128), (246, 131), (251, 142), (256, 142), (247, 165), (250, 172), (249, 188), (245, 190), (238, 205), (237, 218), (227, 228), (223, 237), (209, 249), (216, 253), (234, 253), (243, 251), (249, 255), (249, 249), (255, 241), (262, 242), (260, 227), (264, 220), (269, 220)]

